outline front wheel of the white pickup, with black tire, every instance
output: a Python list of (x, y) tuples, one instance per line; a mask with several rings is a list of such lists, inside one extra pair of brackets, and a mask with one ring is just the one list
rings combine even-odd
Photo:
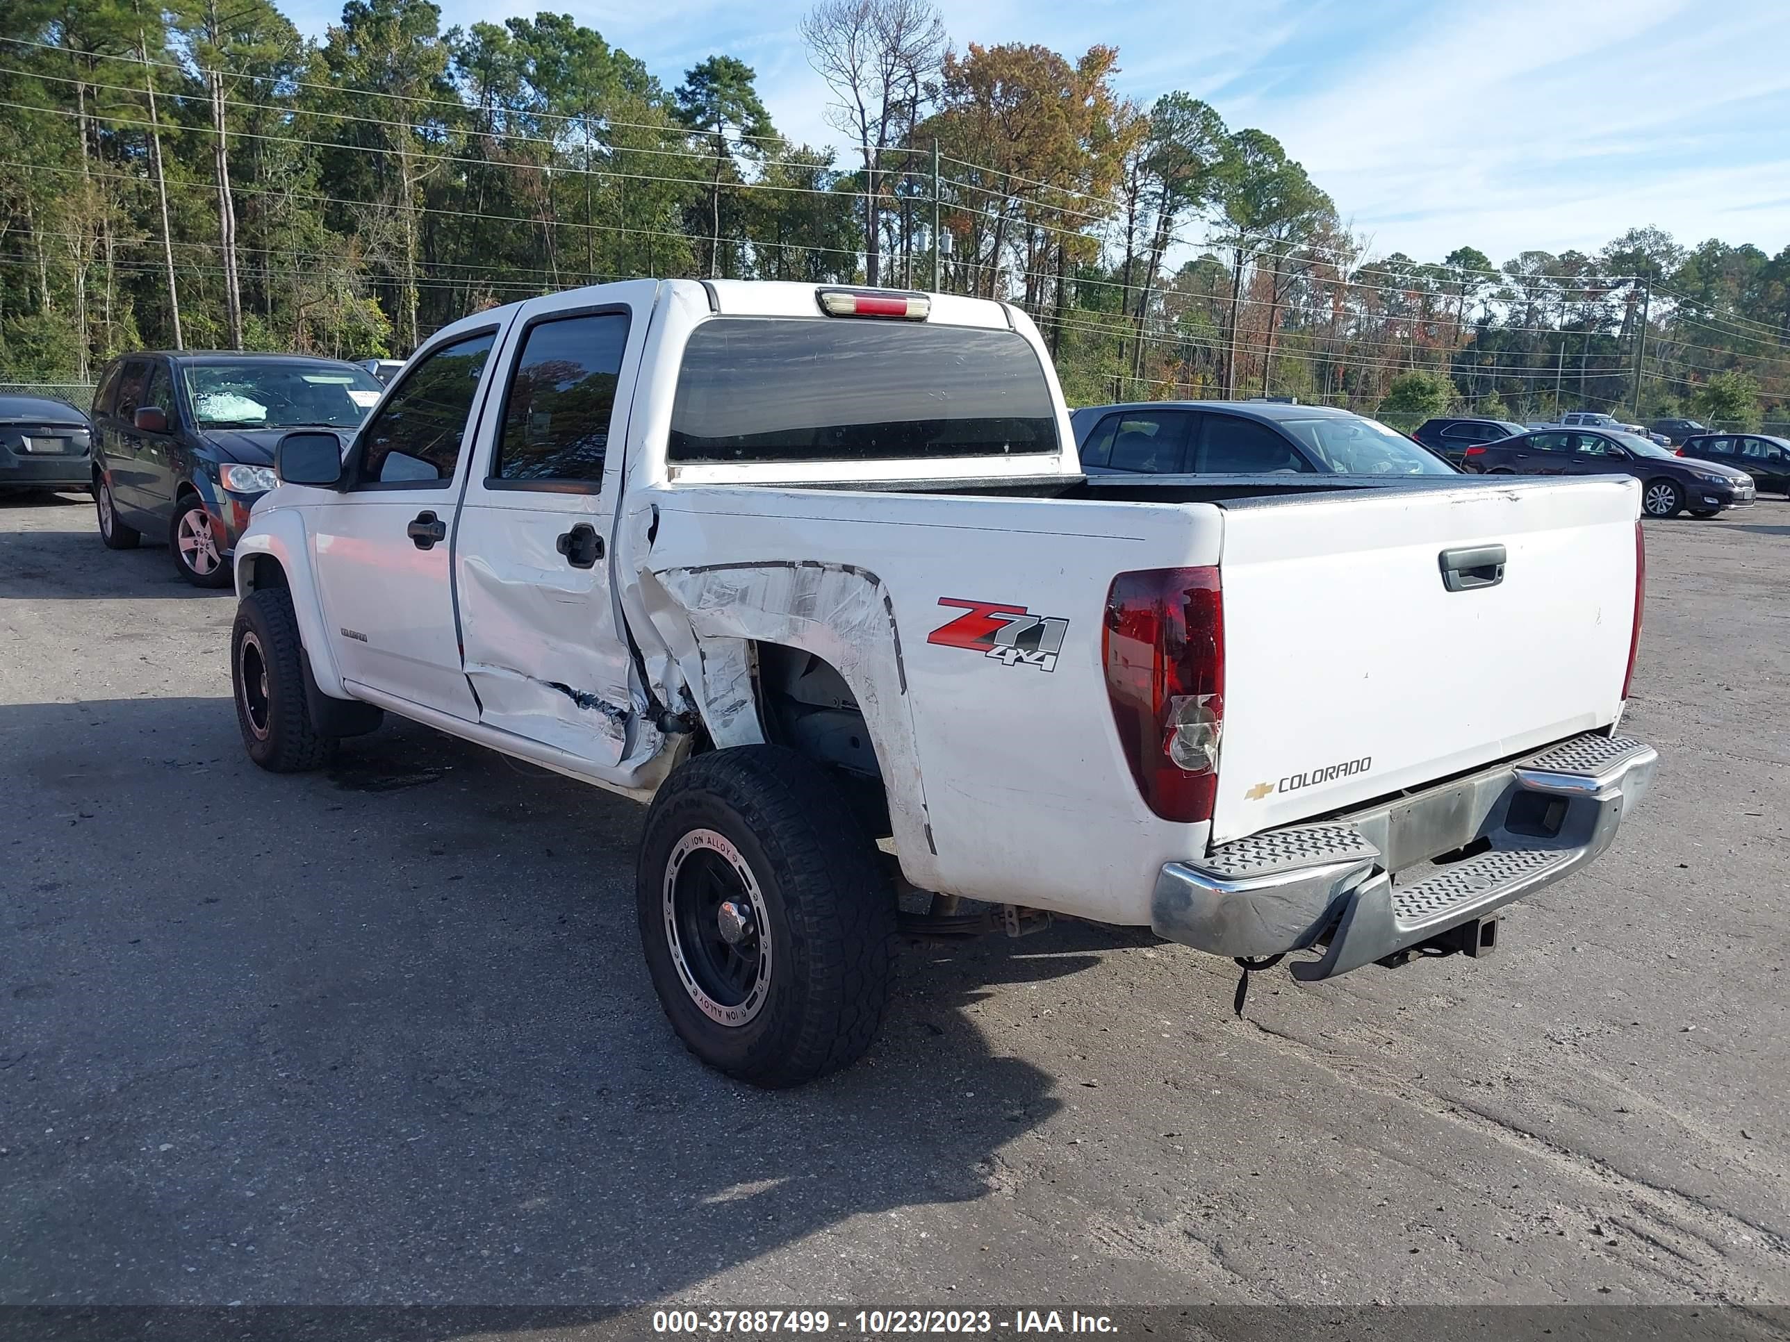
[[(247, 664), (251, 682), (245, 691), (245, 651), (256, 655)], [(304, 773), (322, 768), (335, 752), (328, 737), (311, 723), (304, 698), (304, 644), (299, 617), (292, 610), (292, 592), (263, 587), (236, 605), (236, 626), (229, 639), (229, 678), (236, 701), (236, 726), (249, 759), (270, 773)], [(256, 721), (256, 719), (261, 721)]]

